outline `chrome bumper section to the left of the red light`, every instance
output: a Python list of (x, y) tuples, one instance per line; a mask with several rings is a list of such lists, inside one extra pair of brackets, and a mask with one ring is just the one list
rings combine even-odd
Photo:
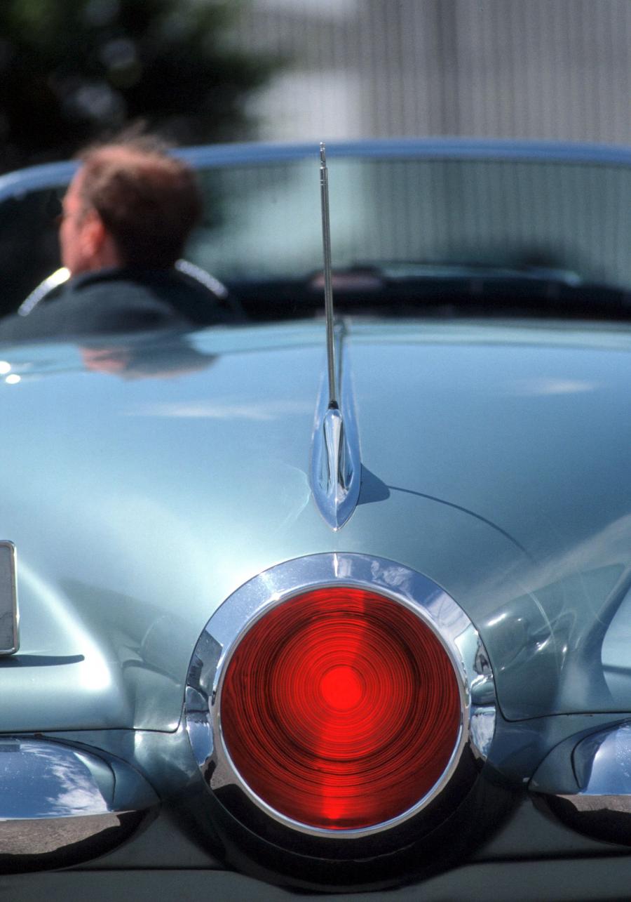
[(146, 780), (123, 761), (59, 742), (0, 739), (3, 863), (51, 853), (66, 861), (93, 857), (123, 842), (130, 825), (157, 804)]

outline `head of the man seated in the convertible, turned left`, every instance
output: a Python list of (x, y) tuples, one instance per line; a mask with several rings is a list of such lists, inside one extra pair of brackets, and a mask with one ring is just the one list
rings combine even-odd
[(172, 266), (201, 216), (190, 167), (148, 139), (103, 144), (81, 160), (63, 201), (63, 265), (73, 275)]

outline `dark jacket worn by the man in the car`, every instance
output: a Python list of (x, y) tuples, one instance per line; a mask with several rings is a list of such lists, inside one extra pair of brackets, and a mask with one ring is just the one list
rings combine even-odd
[(187, 329), (229, 321), (215, 295), (177, 270), (109, 269), (70, 279), (53, 299), (0, 321), (0, 342)]

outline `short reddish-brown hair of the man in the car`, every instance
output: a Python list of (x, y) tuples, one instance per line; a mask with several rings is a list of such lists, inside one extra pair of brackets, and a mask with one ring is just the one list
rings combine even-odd
[(114, 239), (121, 264), (168, 269), (202, 213), (195, 173), (156, 139), (123, 139), (88, 148), (80, 195)]

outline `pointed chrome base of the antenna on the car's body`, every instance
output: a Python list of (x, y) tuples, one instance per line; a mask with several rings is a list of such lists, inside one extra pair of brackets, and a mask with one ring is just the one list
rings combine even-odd
[(318, 510), (327, 525), (337, 531), (351, 517), (359, 501), (361, 456), (351, 367), (348, 350), (343, 348), (343, 326), (335, 328), (334, 338), (341, 375), (340, 407), (331, 407), (323, 382), (315, 406), (309, 479)]

